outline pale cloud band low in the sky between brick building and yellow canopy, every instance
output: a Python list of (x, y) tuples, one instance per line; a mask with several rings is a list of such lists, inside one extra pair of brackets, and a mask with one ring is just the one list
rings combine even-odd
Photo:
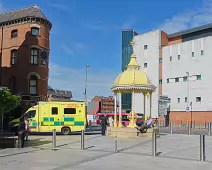
[[(110, 86), (116, 79), (118, 73), (110, 69), (88, 70), (87, 94), (88, 99), (96, 95), (112, 95)], [(83, 100), (85, 91), (85, 69), (65, 68), (58, 64), (50, 64), (49, 85), (52, 88), (70, 90), (73, 98)]]

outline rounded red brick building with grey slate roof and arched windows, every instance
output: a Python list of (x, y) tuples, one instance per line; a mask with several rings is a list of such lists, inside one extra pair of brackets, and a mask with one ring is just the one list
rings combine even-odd
[(0, 86), (25, 105), (47, 100), (51, 28), (38, 6), (0, 15)]

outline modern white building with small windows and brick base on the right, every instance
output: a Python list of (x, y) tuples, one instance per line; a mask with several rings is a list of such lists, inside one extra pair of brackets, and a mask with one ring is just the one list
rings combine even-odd
[[(170, 35), (155, 30), (135, 35), (133, 40), (141, 69), (157, 86), (153, 117), (161, 113), (159, 102), (169, 99), (172, 121), (212, 121), (212, 24)], [(135, 110), (142, 113), (142, 96), (136, 97)]]

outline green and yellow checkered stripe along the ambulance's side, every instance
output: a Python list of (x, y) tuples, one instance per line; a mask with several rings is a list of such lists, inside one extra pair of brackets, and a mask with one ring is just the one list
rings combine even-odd
[(43, 120), (41, 121), (41, 126), (84, 126), (84, 125), (85, 125), (84, 118), (74, 118), (74, 117), (63, 117), (63, 118), (43, 117)]

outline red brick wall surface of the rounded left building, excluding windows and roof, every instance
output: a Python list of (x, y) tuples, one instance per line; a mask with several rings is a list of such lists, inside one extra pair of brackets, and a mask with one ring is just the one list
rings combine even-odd
[[(40, 29), (39, 36), (31, 34), (31, 28)], [(1, 28), (0, 28), (1, 29)], [(12, 30), (18, 30), (18, 37), (11, 38)], [(22, 23), (4, 27), (3, 29), (3, 49), (2, 49), (2, 86), (9, 87), (10, 78), (15, 77), (15, 92), (24, 92), (29, 94), (29, 75), (38, 75), (38, 95), (47, 95), (48, 91), (48, 66), (41, 65), (39, 55), (38, 65), (30, 64), (31, 48), (39, 49), (39, 52), (50, 50), (50, 27), (45, 23)], [(2, 31), (0, 31), (0, 40), (2, 40)], [(0, 42), (1, 48), (1, 42)], [(18, 50), (18, 61), (16, 65), (11, 65), (11, 50)]]

